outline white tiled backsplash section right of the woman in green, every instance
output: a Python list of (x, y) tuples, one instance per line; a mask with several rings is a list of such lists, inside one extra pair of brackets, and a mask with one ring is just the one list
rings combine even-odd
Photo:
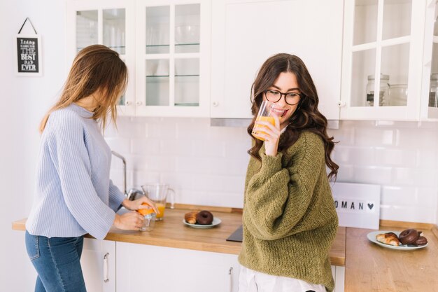
[(381, 219), (437, 223), (438, 123), (342, 121), (339, 181), (381, 185)]

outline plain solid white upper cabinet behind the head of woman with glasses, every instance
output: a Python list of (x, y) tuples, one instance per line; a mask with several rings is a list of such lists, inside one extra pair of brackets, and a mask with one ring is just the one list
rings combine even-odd
[(300, 57), (319, 109), (339, 119), (342, 0), (215, 0), (212, 4), (211, 117), (251, 118), (250, 88), (268, 57)]

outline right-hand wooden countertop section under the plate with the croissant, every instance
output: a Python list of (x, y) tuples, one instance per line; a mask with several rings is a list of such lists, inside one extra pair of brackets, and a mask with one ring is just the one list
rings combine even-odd
[(415, 250), (386, 249), (370, 242), (374, 231), (347, 228), (345, 292), (438, 291), (438, 231), (435, 225), (381, 225), (380, 230), (422, 230), (428, 246)]

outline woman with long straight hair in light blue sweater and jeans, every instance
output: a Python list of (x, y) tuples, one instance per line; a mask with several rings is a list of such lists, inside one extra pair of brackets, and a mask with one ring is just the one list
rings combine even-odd
[(76, 56), (59, 101), (41, 122), (36, 193), (25, 236), (38, 273), (36, 292), (86, 291), (83, 235), (103, 239), (111, 225), (139, 230), (143, 217), (135, 211), (115, 214), (121, 206), (157, 211), (146, 197), (126, 200), (109, 179), (111, 150), (101, 130), (108, 116), (115, 122), (126, 85), (127, 67), (118, 53), (88, 46)]

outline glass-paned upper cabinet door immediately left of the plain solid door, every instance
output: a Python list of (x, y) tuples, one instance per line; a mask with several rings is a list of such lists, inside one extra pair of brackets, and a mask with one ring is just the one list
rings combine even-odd
[(209, 1), (136, 5), (136, 115), (209, 116)]

